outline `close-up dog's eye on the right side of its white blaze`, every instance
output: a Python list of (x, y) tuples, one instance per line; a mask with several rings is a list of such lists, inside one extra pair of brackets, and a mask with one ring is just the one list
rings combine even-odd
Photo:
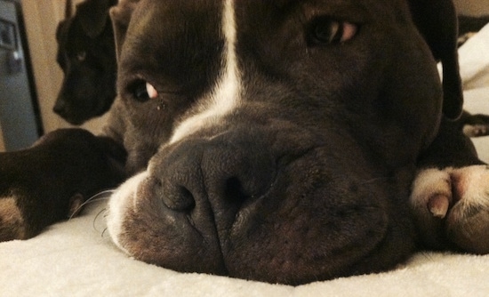
[(348, 21), (321, 17), (309, 27), (309, 44), (341, 44), (357, 34), (357, 25)]

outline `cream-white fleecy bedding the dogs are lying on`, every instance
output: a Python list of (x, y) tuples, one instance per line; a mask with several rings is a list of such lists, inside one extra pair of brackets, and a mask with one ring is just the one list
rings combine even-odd
[[(466, 108), (489, 114), (489, 26), (460, 53)], [(489, 162), (489, 137), (474, 141)], [(104, 207), (0, 244), (0, 296), (489, 296), (489, 255), (418, 253), (386, 273), (297, 287), (181, 274), (117, 250), (103, 233)]]

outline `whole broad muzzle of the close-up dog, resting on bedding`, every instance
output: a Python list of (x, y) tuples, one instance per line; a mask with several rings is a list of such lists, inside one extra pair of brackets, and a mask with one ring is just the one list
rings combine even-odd
[(387, 213), (400, 200), (387, 201), (389, 178), (351, 170), (368, 167), (332, 153), (333, 136), (320, 143), (282, 124), (212, 135), (160, 149), (117, 190), (108, 231), (126, 253), (179, 271), (301, 284), (385, 269), (411, 251), (410, 224)]

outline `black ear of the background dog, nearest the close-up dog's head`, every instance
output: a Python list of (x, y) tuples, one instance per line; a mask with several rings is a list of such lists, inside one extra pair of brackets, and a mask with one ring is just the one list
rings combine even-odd
[(113, 0), (86, 0), (76, 5), (76, 17), (80, 20), (84, 33), (94, 38), (107, 25), (108, 9)]

